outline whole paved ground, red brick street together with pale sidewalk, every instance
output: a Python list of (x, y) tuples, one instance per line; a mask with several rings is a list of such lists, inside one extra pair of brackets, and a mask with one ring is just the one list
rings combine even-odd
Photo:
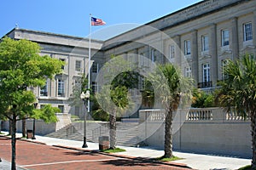
[[(89, 147), (82, 149), (82, 141), (43, 136), (27, 140), (17, 140), (17, 165), (20, 169), (237, 169), (251, 162), (249, 159), (175, 151), (174, 155), (183, 160), (160, 163), (149, 158), (163, 156), (164, 151), (150, 147), (118, 146), (126, 151), (104, 154), (98, 152), (97, 143), (88, 142)], [(9, 169), (10, 150), (10, 139), (0, 137), (0, 157), (3, 160), (0, 169)]]

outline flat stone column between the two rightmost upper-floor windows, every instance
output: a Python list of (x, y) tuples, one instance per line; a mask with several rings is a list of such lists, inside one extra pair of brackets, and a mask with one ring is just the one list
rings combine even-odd
[[(238, 42), (238, 28), (237, 28), (237, 18), (234, 17), (232, 20), (231, 20), (231, 23), (232, 23), (232, 32), (231, 32), (231, 35), (232, 35), (232, 42), (230, 43), (231, 44), (231, 50), (232, 50), (232, 54), (231, 54), (231, 57), (232, 59), (238, 59), (239, 57), (239, 42)], [(241, 40), (243, 41), (243, 40)]]

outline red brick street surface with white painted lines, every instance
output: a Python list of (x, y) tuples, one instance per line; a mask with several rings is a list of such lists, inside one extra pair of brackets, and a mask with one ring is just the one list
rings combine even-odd
[[(27, 169), (187, 169), (142, 158), (112, 156), (93, 151), (67, 150), (17, 140), (16, 163)], [(10, 139), (0, 137), (0, 157), (11, 160)]]

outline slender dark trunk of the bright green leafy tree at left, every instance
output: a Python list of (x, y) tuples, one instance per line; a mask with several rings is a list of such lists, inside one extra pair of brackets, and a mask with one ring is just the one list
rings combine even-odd
[(12, 170), (16, 169), (16, 115), (13, 115), (13, 119), (11, 121), (11, 127), (12, 127), (12, 133), (11, 133), (11, 139), (12, 139)]

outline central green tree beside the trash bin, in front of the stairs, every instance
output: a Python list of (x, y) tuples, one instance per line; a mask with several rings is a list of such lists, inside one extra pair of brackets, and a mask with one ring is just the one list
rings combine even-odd
[[(101, 74), (103, 72), (103, 74)], [(131, 63), (122, 57), (111, 56), (100, 72), (100, 93), (96, 99), (100, 104), (99, 113), (107, 112), (109, 115), (110, 149), (116, 147), (116, 121), (131, 106), (128, 90), (137, 88), (138, 73), (132, 71)], [(102, 81), (102, 82), (101, 82)], [(130, 102), (129, 102), (130, 101)]]

